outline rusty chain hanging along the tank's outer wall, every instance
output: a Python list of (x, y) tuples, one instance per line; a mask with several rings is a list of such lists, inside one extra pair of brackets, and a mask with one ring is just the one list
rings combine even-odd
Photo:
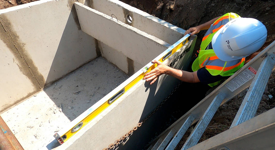
[(138, 125), (136, 125), (133, 129), (131, 129), (125, 135), (122, 135), (120, 139), (115, 140), (114, 143), (111, 143), (107, 148), (103, 148), (102, 150), (113, 149), (116, 145), (119, 145), (122, 140), (126, 139), (129, 135), (131, 135), (134, 131), (136, 131), (142, 125), (142, 123), (148, 120), (166, 102), (166, 100), (170, 98), (170, 96), (177, 90), (177, 88), (181, 84), (182, 82), (178, 83), (178, 85), (174, 88), (174, 90), (171, 93), (169, 93), (169, 95), (144, 120), (142, 120), (142, 122), (139, 122)]

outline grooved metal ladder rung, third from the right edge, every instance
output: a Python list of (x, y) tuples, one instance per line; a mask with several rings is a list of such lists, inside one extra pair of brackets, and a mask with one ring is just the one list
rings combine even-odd
[(189, 126), (194, 120), (195, 120), (194, 115), (190, 114), (165, 150), (173, 150), (176, 148), (176, 146), (178, 145), (178, 142), (180, 142), (180, 139), (182, 139), (183, 135), (185, 134), (185, 132), (187, 131), (187, 129), (189, 128)]

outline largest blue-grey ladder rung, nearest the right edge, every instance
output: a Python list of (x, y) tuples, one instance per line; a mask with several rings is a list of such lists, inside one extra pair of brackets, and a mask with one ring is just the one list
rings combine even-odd
[(230, 128), (237, 126), (238, 124), (243, 123), (255, 116), (274, 64), (274, 57), (267, 54), (261, 63)]

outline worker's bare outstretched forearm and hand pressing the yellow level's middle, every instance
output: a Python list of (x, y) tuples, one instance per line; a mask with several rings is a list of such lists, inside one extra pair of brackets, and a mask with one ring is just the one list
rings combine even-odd
[(143, 78), (143, 80), (146, 79), (146, 81), (152, 80), (150, 84), (153, 84), (161, 74), (168, 74), (170, 76), (173, 76), (173, 77), (176, 77), (177, 79), (182, 80), (183, 82), (189, 82), (189, 83), (200, 82), (197, 76), (197, 71), (188, 72), (188, 71), (174, 69), (164, 65), (158, 60), (153, 60), (152, 63), (156, 63), (158, 64), (158, 66), (155, 69), (151, 70), (149, 73), (145, 74)]

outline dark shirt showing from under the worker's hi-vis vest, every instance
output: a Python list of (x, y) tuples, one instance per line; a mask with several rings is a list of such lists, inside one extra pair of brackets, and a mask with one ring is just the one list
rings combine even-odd
[[(207, 47), (205, 48), (205, 50), (209, 50), (209, 49), (213, 49), (212, 48), (212, 43), (210, 42), (209, 45), (207, 45)], [(206, 70), (205, 67), (202, 67), (200, 68), (198, 71), (197, 71), (197, 76), (200, 80), (200, 82), (204, 83), (204, 84), (210, 84), (210, 83), (214, 83), (214, 82), (217, 82), (219, 80), (222, 80), (222, 79), (226, 79), (228, 78), (229, 76), (221, 76), (221, 75), (217, 75), (217, 76), (213, 76), (209, 73), (208, 70)]]

